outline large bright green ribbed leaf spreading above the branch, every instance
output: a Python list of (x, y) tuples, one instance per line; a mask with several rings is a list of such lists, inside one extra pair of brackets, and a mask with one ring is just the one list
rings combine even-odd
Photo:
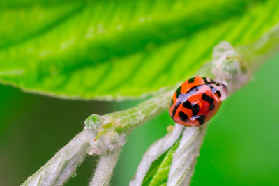
[(279, 22), (278, 0), (1, 1), (0, 80), (66, 98), (172, 86)]

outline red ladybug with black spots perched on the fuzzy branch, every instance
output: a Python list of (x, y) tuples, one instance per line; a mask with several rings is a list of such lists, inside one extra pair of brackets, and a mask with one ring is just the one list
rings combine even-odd
[(209, 77), (193, 77), (183, 82), (172, 96), (169, 114), (174, 122), (189, 127), (209, 121), (227, 98), (225, 84)]

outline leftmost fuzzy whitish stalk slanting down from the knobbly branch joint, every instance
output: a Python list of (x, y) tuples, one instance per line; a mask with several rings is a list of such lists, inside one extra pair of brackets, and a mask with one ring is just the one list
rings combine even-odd
[(86, 156), (86, 148), (93, 134), (84, 130), (77, 134), (52, 159), (30, 176), (22, 185), (63, 185)]

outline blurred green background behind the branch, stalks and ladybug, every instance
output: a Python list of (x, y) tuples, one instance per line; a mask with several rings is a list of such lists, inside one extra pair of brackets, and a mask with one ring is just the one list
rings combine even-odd
[[(191, 185), (278, 185), (279, 54), (225, 100), (209, 124)], [(82, 130), (89, 114), (140, 102), (59, 100), (0, 86), (0, 185), (20, 185)], [(111, 185), (128, 185), (142, 154), (172, 125), (167, 111), (128, 137)], [(66, 185), (87, 185), (96, 166), (87, 157)]]

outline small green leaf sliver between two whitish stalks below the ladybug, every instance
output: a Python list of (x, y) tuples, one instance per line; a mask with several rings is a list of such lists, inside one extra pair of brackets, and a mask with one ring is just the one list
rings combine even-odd
[(142, 182), (143, 186), (167, 185), (169, 169), (172, 164), (172, 155), (179, 147), (179, 141), (180, 139), (151, 164), (149, 171), (146, 173)]

